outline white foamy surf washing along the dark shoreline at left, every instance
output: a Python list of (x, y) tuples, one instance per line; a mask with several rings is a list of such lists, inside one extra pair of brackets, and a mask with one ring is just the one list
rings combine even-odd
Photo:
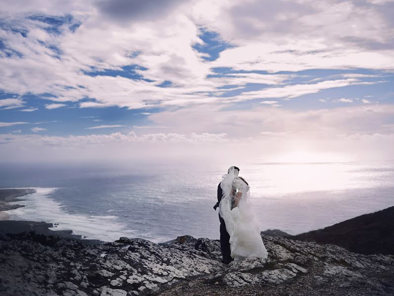
[(87, 216), (69, 214), (62, 209), (62, 205), (48, 195), (59, 188), (30, 187), (36, 192), (25, 195), (23, 201), (14, 202), (25, 207), (8, 211), (10, 220), (45, 221), (56, 223), (52, 230), (73, 230), (73, 234), (80, 234), (89, 239), (114, 241), (121, 236), (136, 237), (136, 233), (127, 229), (126, 224), (119, 222), (116, 216)]

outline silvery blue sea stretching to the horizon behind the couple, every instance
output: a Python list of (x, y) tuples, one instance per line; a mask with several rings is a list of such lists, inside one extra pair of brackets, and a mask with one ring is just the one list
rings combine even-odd
[[(229, 164), (238, 165), (238, 164)], [(239, 165), (240, 166), (240, 165)], [(322, 228), (394, 205), (394, 162), (255, 163), (240, 166), (261, 230)], [(213, 210), (226, 165), (205, 168), (1, 166), (0, 188), (37, 193), (12, 220), (59, 223), (91, 239), (164, 242), (179, 235), (219, 238)]]

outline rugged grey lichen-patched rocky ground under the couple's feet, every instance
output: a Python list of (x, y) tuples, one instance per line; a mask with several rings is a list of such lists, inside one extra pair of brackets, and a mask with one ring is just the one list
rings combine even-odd
[(2, 296), (394, 295), (394, 256), (262, 236), (268, 259), (224, 265), (219, 241), (191, 236), (93, 246), (0, 233)]

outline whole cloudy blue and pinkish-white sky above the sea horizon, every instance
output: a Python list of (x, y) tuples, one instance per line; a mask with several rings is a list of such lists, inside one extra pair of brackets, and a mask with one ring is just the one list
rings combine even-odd
[(0, 162), (393, 159), (393, 0), (1, 0)]

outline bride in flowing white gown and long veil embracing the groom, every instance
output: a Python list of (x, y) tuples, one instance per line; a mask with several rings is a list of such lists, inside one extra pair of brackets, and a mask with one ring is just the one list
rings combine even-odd
[(231, 167), (220, 182), (222, 198), (219, 214), (230, 235), (231, 257), (242, 260), (246, 257), (267, 258), (260, 229), (249, 202), (249, 185), (238, 177), (238, 170)]

